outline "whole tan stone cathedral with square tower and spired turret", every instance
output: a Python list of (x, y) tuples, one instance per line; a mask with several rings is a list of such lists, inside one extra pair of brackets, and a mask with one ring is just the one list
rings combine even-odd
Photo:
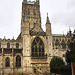
[(63, 57), (70, 41), (71, 30), (67, 35), (52, 34), (48, 15), (43, 31), (39, 0), (23, 0), (21, 33), (16, 40), (0, 39), (0, 75), (49, 73), (51, 58)]

